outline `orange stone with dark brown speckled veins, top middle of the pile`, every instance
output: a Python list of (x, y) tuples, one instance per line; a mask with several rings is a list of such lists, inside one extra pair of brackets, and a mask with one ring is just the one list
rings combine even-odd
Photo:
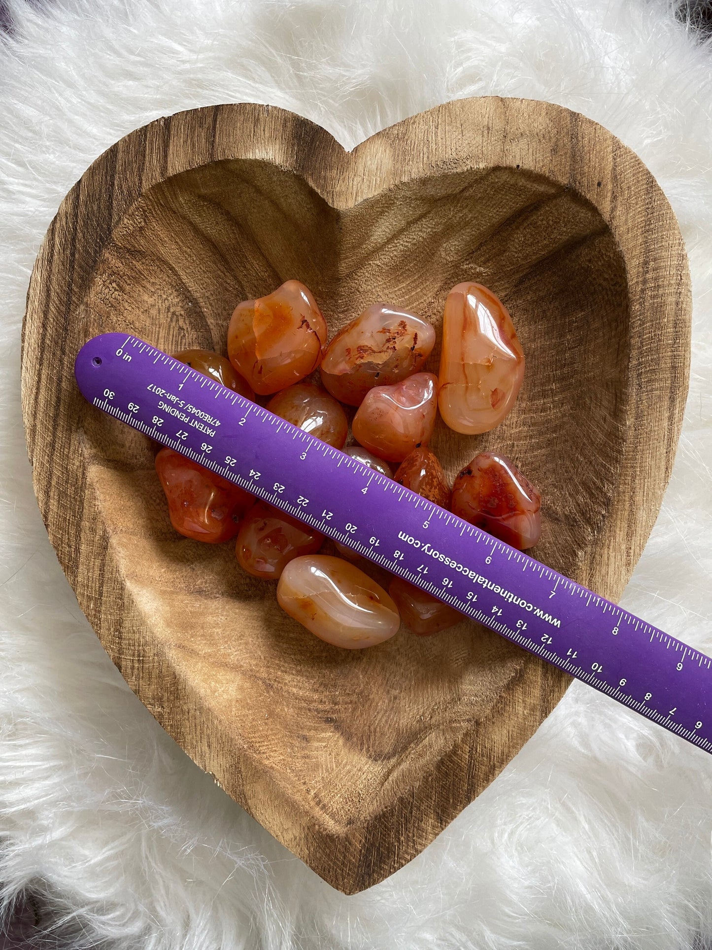
[(331, 340), (321, 365), (324, 385), (348, 406), (360, 406), (374, 386), (390, 386), (418, 372), (435, 345), (422, 317), (373, 304)]

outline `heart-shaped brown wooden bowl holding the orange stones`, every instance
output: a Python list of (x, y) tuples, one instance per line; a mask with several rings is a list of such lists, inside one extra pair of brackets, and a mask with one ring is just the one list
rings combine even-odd
[(49, 538), (159, 723), (354, 893), (432, 841), (569, 678), (464, 620), (363, 652), (312, 637), (272, 584), (237, 567), (232, 544), (176, 534), (152, 447), (84, 403), (73, 362), (90, 336), (225, 352), (237, 301), (290, 277), (330, 333), (381, 300), (440, 328), (461, 280), (502, 297), (527, 355), (515, 409), (480, 437), (439, 423), (433, 447), (451, 478), (480, 450), (512, 456), (544, 499), (534, 556), (611, 599), (673, 460), (689, 284), (677, 223), (643, 163), (600, 125), (541, 102), (441, 105), (353, 152), (281, 109), (193, 109), (117, 142), (63, 201), (23, 337)]

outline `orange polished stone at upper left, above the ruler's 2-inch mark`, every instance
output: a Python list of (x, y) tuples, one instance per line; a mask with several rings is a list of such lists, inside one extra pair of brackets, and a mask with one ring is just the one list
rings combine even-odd
[(327, 324), (309, 289), (288, 280), (272, 294), (243, 300), (228, 327), (228, 356), (253, 390), (266, 396), (315, 370)]

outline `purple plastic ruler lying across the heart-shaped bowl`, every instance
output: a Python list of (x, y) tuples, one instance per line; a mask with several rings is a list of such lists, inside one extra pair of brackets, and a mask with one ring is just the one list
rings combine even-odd
[(93, 406), (712, 751), (712, 660), (135, 336), (75, 372)]

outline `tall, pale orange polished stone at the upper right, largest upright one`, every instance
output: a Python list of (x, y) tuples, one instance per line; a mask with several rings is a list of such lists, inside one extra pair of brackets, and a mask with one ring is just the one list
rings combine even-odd
[(439, 404), (456, 432), (488, 432), (515, 405), (524, 353), (501, 300), (481, 284), (450, 291), (442, 318)]

